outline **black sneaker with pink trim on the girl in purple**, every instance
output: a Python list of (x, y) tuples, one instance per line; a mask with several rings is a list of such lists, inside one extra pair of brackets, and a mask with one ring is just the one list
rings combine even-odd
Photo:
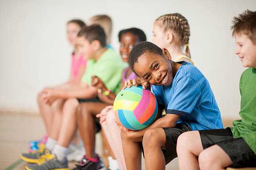
[(80, 161), (76, 168), (73, 170), (105, 170), (104, 163), (102, 162), (99, 155), (97, 155), (98, 161), (96, 163), (89, 160), (86, 155)]

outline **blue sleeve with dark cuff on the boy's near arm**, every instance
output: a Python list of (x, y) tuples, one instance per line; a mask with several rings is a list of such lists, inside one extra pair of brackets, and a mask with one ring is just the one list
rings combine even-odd
[(200, 95), (199, 83), (191, 77), (180, 77), (175, 82), (174, 93), (168, 104), (166, 114), (187, 117), (195, 108)]

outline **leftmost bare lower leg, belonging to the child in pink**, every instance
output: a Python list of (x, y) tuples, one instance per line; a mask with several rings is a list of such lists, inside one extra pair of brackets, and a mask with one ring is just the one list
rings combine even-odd
[(51, 125), (52, 125), (52, 119), (53, 119), (53, 112), (51, 110), (51, 106), (46, 105), (44, 103), (41, 92), (37, 96), (37, 103), (38, 103), (38, 107), (39, 107), (39, 112), (44, 120), (46, 133), (47, 133), (47, 135), (49, 135), (50, 130), (51, 130)]

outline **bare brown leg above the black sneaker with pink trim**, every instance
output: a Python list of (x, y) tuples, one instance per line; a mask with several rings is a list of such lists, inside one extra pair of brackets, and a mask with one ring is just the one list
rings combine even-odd
[(95, 154), (95, 115), (106, 107), (107, 104), (101, 102), (82, 102), (77, 109), (77, 125), (84, 143), (88, 158), (97, 158)]

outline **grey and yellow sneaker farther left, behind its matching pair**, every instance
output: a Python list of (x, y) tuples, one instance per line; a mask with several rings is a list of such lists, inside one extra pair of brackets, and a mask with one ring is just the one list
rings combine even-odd
[(39, 162), (39, 158), (42, 155), (45, 155), (46, 152), (49, 152), (49, 150), (46, 149), (46, 147), (44, 146), (44, 144), (40, 144), (39, 145), (39, 149), (37, 149), (36, 151), (33, 151), (31, 153), (23, 153), (20, 155), (20, 159), (28, 162), (28, 163), (38, 163)]

